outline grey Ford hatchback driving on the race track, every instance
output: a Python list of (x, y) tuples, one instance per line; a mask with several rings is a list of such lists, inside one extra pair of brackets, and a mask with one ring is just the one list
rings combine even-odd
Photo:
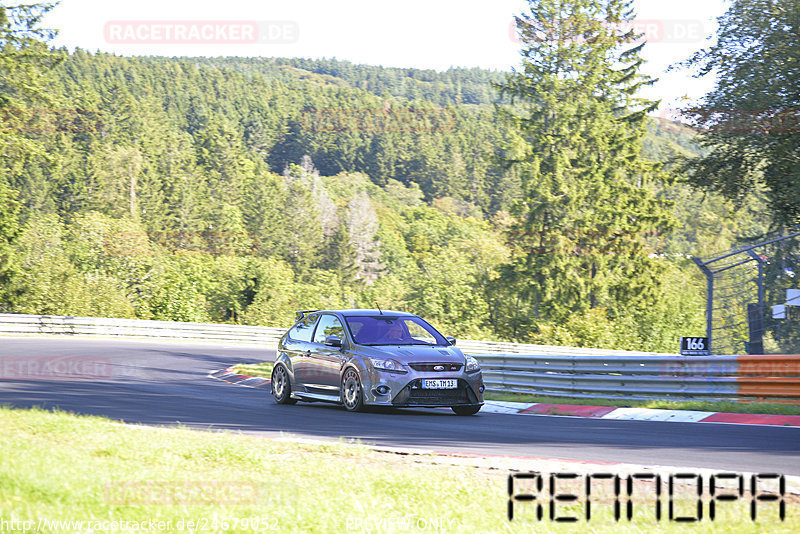
[(422, 318), (381, 310), (297, 312), (278, 343), (272, 394), (344, 405), (450, 407), (473, 415), (483, 406), (478, 362)]

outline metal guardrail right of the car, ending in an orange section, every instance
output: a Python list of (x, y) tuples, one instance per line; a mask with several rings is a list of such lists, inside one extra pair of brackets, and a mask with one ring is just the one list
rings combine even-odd
[(489, 391), (800, 403), (800, 356), (474, 355)]

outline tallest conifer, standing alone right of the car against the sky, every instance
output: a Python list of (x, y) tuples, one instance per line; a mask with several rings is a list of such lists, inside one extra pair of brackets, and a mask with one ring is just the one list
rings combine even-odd
[(648, 240), (670, 228), (649, 185), (642, 64), (630, 0), (529, 0), (517, 17), (522, 70), (498, 86), (516, 128), (508, 164), (522, 176), (510, 237), (524, 306), (512, 329), (573, 312), (644, 306), (657, 286)]

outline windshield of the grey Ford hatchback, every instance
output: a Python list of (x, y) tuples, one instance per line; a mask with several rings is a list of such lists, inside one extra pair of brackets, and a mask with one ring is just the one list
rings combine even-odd
[(447, 345), (447, 340), (419, 317), (389, 315), (347, 317), (359, 345)]

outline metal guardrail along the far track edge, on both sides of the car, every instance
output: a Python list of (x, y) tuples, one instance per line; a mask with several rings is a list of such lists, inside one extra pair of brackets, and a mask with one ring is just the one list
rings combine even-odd
[[(0, 334), (170, 339), (275, 347), (284, 328), (0, 314)], [(770, 399), (800, 403), (800, 356), (679, 356), (459, 340), (489, 391), (597, 399)]]

